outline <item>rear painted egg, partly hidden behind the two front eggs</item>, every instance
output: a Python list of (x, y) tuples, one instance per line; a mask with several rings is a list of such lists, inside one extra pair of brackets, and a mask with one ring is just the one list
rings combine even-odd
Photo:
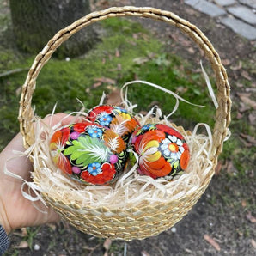
[(131, 133), (139, 123), (131, 113), (123, 107), (100, 105), (88, 112), (88, 119), (119, 134), (128, 143)]

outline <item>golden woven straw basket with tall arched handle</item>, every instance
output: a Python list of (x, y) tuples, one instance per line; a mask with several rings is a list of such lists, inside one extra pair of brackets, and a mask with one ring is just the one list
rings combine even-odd
[[(58, 198), (52, 198), (51, 195), (43, 193), (43, 198), (46, 202), (52, 205), (64, 219), (76, 226), (77, 229), (98, 237), (131, 241), (132, 239), (143, 239), (152, 235), (158, 235), (180, 221), (192, 209), (192, 206), (196, 204), (209, 185), (211, 177), (214, 174), (217, 157), (222, 152), (222, 143), (227, 136), (227, 128), (230, 122), (231, 101), (229, 98), (229, 82), (226, 70), (221, 63), (218, 53), (198, 27), (174, 15), (172, 12), (148, 7), (113, 7), (86, 15), (55, 34), (42, 52), (36, 56), (22, 88), (19, 120), (24, 146), (27, 149), (33, 145), (35, 140), (34, 125), (32, 125), (34, 121), (34, 109), (31, 107), (31, 101), (36, 79), (41, 68), (52, 57), (52, 53), (55, 52), (58, 46), (65, 40), (68, 40), (72, 34), (96, 21), (101, 21), (109, 17), (122, 16), (137, 16), (156, 21), (164, 21), (169, 25), (178, 27), (190, 37), (204, 51), (214, 70), (217, 85), (216, 99), (218, 102), (216, 123), (212, 131), (213, 145), (210, 152), (210, 160), (213, 162), (213, 168), (207, 174), (206, 179), (202, 180), (198, 190), (190, 194), (185, 194), (179, 199), (168, 202), (168, 204), (155, 203), (140, 205), (140, 207), (131, 207), (128, 210), (111, 210), (107, 207), (82, 208), (80, 205), (67, 201), (63, 202)], [(34, 172), (36, 173), (37, 170), (34, 169)], [(36, 183), (36, 180), (34, 182)]]

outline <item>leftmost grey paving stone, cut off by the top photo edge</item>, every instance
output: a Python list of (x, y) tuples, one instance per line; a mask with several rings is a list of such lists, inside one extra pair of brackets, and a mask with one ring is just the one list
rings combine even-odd
[(206, 15), (210, 15), (211, 17), (226, 14), (225, 10), (219, 8), (216, 6), (216, 4), (207, 2), (205, 0), (186, 0), (185, 3)]

